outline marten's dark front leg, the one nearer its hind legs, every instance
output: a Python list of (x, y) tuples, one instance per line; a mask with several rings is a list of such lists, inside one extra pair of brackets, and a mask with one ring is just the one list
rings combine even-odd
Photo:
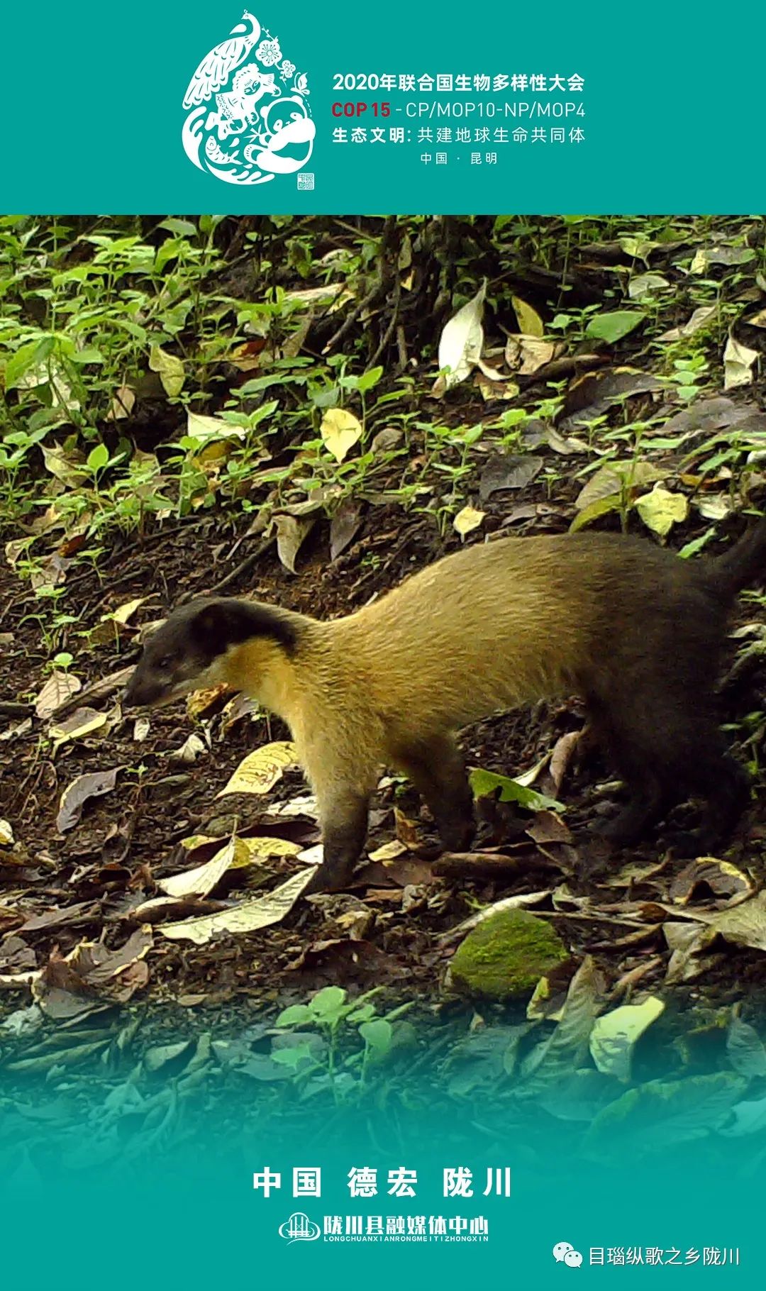
[(451, 736), (411, 745), (397, 751), (394, 759), (425, 799), (444, 848), (465, 852), (475, 833), (473, 797), (462, 757)]

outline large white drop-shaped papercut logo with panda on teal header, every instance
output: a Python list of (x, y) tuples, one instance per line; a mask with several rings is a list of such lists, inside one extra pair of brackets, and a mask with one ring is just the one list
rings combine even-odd
[(183, 150), (225, 183), (267, 183), (309, 161), (316, 127), (309, 80), (247, 9), (203, 58), (183, 96)]

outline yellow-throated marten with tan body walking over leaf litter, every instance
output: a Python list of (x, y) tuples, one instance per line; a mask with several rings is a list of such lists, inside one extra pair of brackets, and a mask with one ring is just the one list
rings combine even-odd
[(319, 804), (318, 887), (349, 882), (381, 766), (412, 780), (444, 847), (469, 847), (455, 732), (575, 693), (629, 791), (605, 833), (634, 843), (696, 795), (707, 811), (687, 851), (701, 853), (749, 794), (718, 728), (716, 684), (731, 604), (765, 565), (766, 519), (701, 560), (606, 533), (470, 546), (331, 622), (196, 600), (150, 638), (127, 701), (164, 704), (226, 682), (282, 717)]

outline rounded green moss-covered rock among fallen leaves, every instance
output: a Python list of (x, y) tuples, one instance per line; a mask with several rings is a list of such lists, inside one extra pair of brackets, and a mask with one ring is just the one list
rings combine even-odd
[(499, 910), (459, 945), (451, 984), (482, 999), (518, 999), (564, 959), (568, 950), (549, 923), (527, 910)]

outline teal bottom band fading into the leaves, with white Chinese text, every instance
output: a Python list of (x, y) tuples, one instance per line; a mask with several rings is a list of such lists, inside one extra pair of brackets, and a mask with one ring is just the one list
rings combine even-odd
[(599, 1109), (594, 1082), (562, 1072), (558, 1091), (484, 1092), (446, 1117), (422, 1077), (385, 1109), (319, 1096), (275, 1113), (257, 1082), (227, 1101), (213, 1082), (90, 1074), (85, 1097), (58, 1082), (5, 1110), (10, 1279), (34, 1259), (32, 1285), (67, 1288), (85, 1260), (115, 1288), (762, 1285), (762, 1153), (731, 1075), (605, 1086)]

